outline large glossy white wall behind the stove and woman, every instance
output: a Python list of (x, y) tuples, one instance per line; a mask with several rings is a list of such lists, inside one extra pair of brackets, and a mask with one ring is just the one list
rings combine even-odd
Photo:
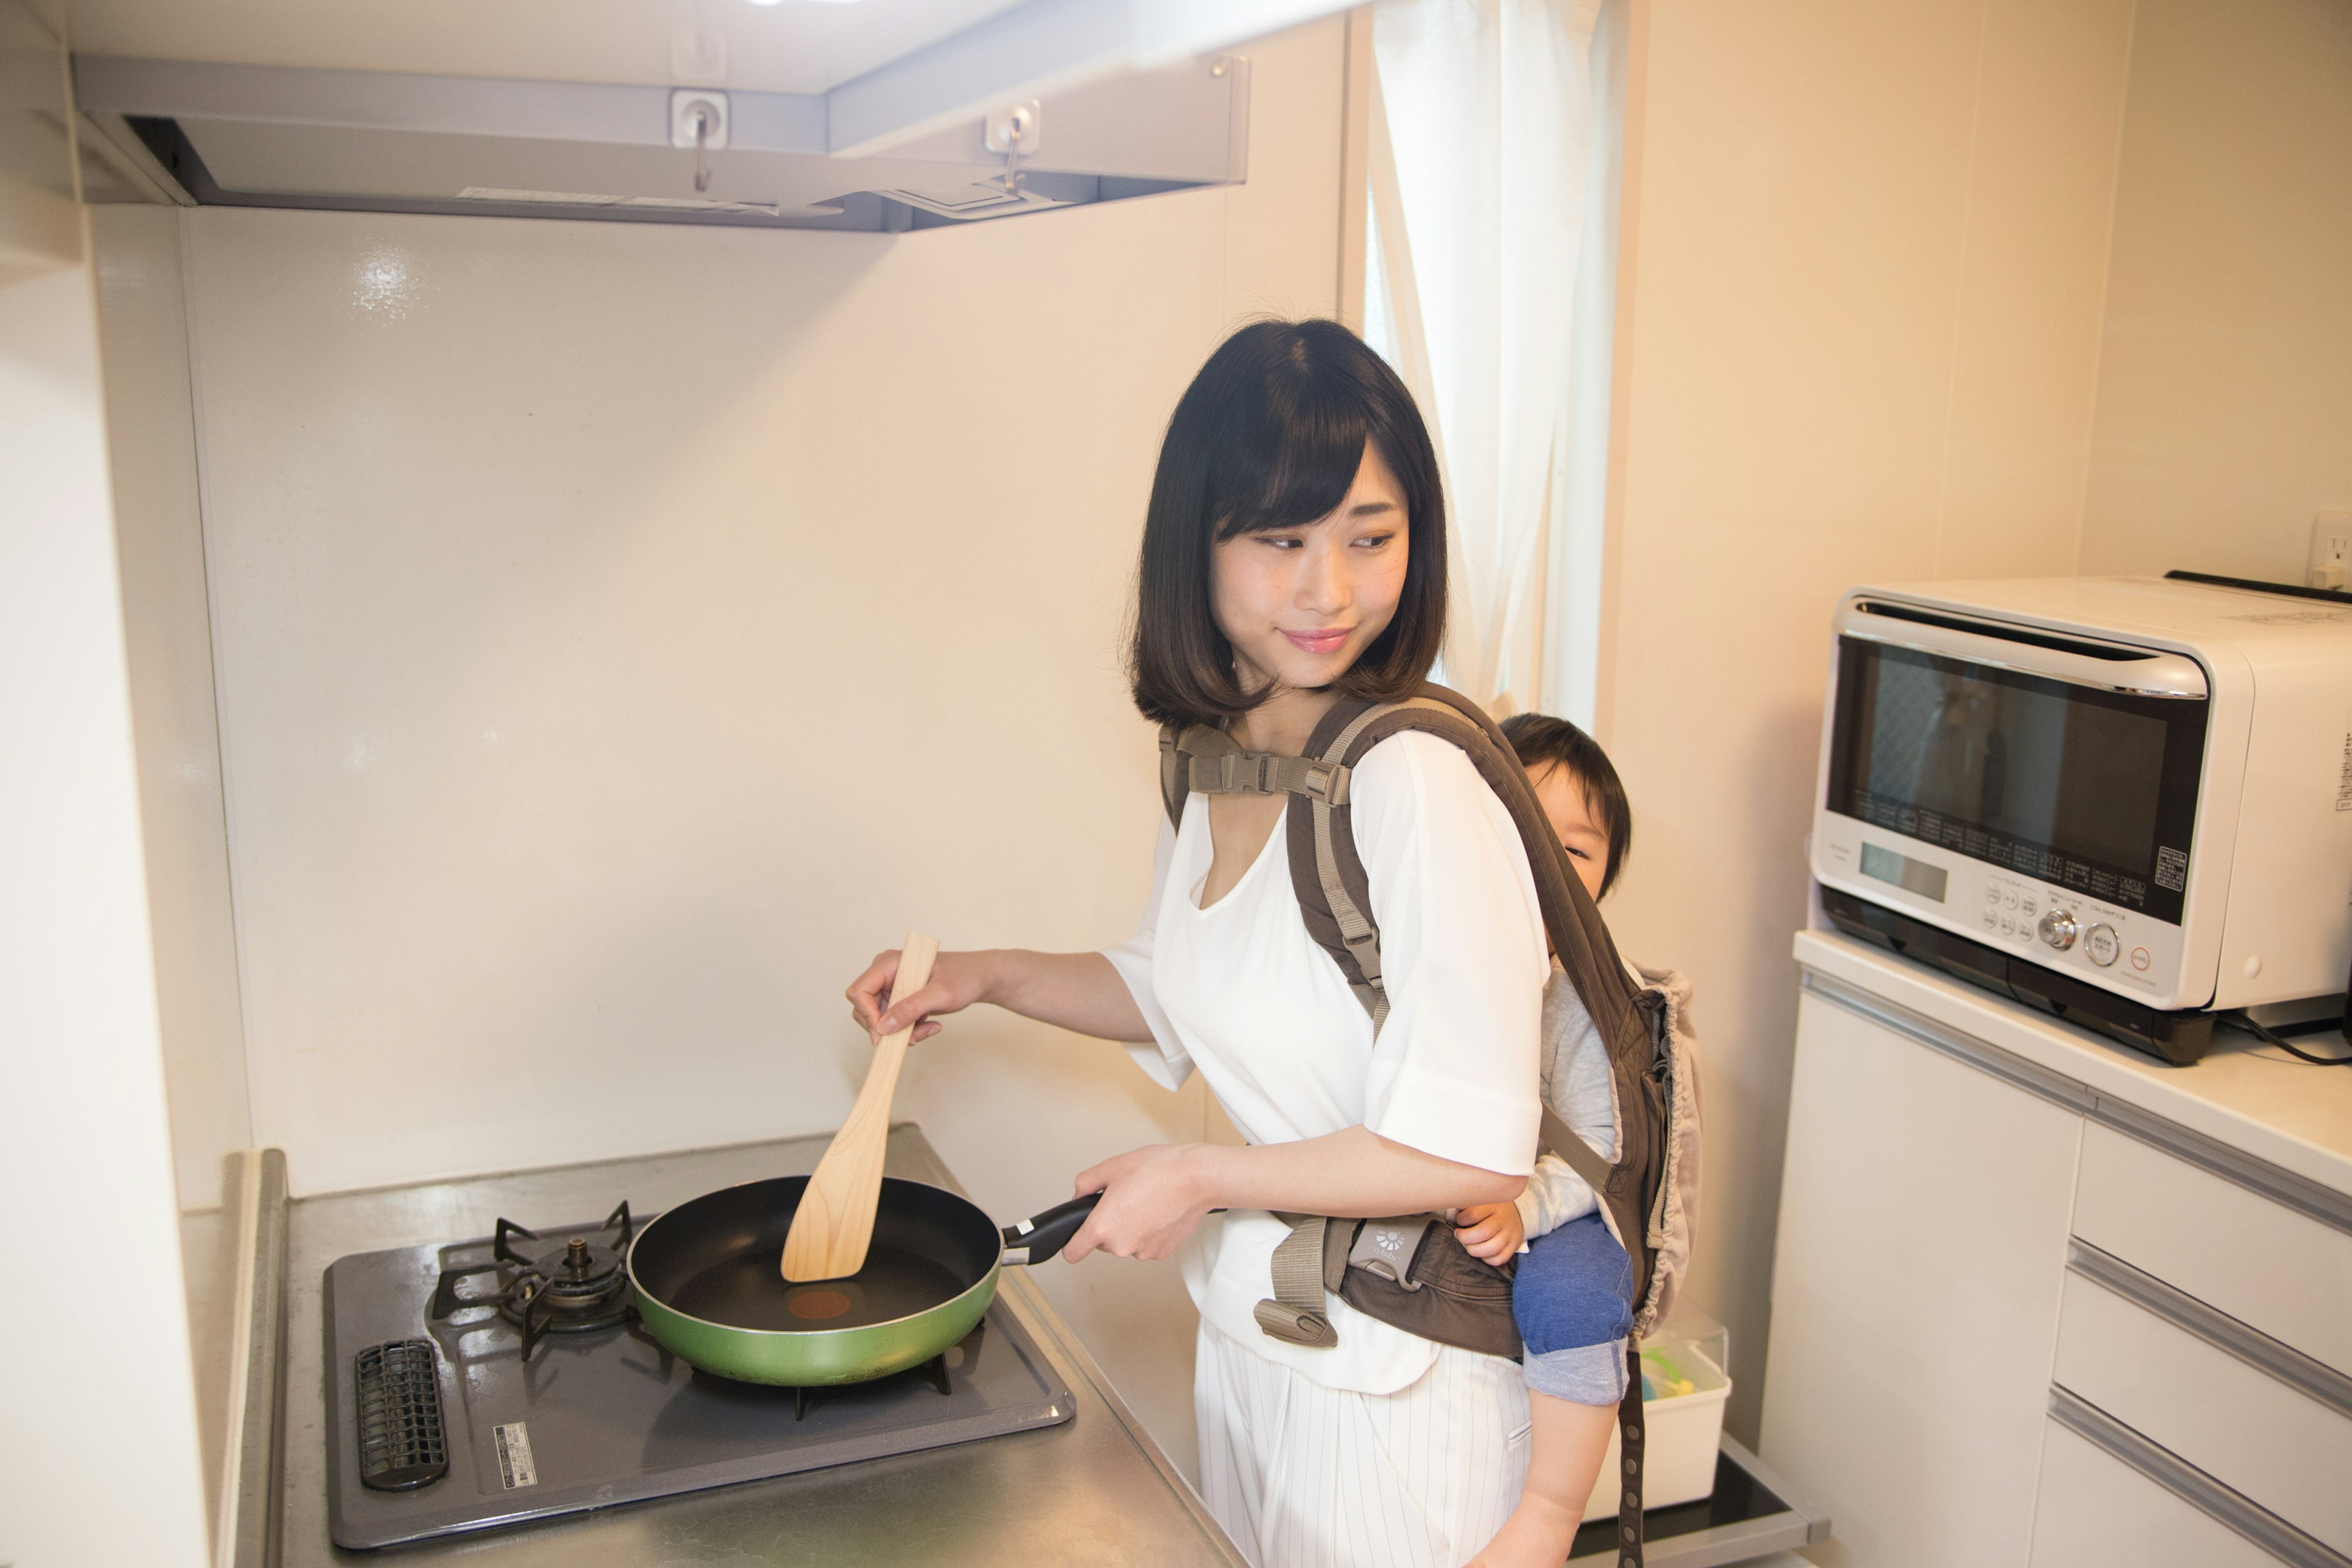
[[(296, 1192), (823, 1131), (842, 985), (908, 926), (1124, 936), (1160, 430), (1232, 324), (1336, 306), (1343, 24), (1249, 54), (1237, 190), (903, 237), (186, 216), (245, 1072)], [(1007, 1218), (1211, 1121), (1004, 1016), (898, 1114)], [(1044, 1284), (1190, 1462), (1174, 1269)]]

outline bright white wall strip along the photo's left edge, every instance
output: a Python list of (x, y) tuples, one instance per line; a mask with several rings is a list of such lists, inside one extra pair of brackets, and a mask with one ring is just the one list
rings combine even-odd
[[(0, 49), (42, 49), (0, 0)], [(0, 71), (0, 235), (56, 233), (68, 148), (28, 167), (49, 73)], [(26, 82), (54, 96), (24, 99)], [(31, 129), (38, 129), (33, 125)], [(28, 148), (35, 148), (28, 153)], [(64, 172), (59, 181), (59, 172)], [(96, 306), (73, 261), (0, 275), (0, 1563), (195, 1568), (205, 1493), (139, 846)], [(136, 1507), (122, 1507), (125, 1476)]]

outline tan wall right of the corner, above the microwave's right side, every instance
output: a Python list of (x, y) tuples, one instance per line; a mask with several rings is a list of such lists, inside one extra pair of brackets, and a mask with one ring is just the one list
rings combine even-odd
[(2300, 583), (2352, 508), (2352, 5), (2140, 0), (2084, 571)]

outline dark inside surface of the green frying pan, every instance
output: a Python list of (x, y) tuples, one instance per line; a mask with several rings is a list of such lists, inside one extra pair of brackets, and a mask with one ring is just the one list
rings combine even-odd
[(1002, 1246), (978, 1208), (922, 1182), (882, 1182), (866, 1267), (788, 1284), (779, 1265), (804, 1175), (727, 1187), (647, 1227), (633, 1265), (656, 1300), (729, 1328), (823, 1333), (929, 1312), (976, 1286)]

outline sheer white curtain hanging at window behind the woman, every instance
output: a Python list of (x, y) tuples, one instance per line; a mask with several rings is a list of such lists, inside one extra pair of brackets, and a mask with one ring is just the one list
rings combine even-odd
[(1444, 677), (1545, 701), (1545, 541), (1569, 503), (1569, 360), (1599, 0), (1374, 12), (1367, 334), (1428, 416), (1454, 515)]

